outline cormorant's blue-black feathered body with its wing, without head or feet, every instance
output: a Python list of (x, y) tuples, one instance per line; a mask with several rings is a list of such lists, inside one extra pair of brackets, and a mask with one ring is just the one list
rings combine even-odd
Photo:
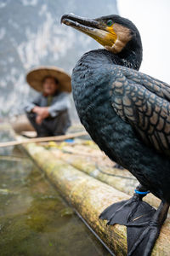
[[(73, 96), (82, 125), (111, 160), (170, 203), (169, 143), (156, 139), (161, 135), (170, 139), (170, 132), (165, 132), (166, 127), (170, 128), (170, 116), (165, 115), (170, 104), (167, 96), (163, 97), (168, 92), (163, 94), (164, 84), (156, 79), (114, 66), (105, 51), (83, 55), (72, 73)], [(154, 91), (153, 82), (162, 86), (161, 96), (156, 96), (159, 92)]]

